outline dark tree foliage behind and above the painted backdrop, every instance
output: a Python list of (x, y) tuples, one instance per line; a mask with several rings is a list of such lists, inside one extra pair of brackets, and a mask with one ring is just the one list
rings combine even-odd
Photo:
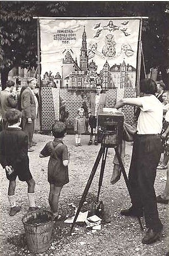
[(142, 27), (146, 72), (151, 67), (164, 72), (168, 67), (168, 2), (1, 1), (0, 68), (4, 80), (13, 67), (37, 67), (37, 25), (33, 16), (147, 16)]

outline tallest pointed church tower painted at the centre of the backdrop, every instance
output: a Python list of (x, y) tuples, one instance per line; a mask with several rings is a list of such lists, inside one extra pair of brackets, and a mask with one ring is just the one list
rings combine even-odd
[(80, 70), (84, 71), (85, 74), (88, 70), (88, 49), (87, 49), (87, 43), (86, 43), (86, 32), (85, 32), (85, 26), (84, 31), (82, 34), (82, 46), (80, 49)]

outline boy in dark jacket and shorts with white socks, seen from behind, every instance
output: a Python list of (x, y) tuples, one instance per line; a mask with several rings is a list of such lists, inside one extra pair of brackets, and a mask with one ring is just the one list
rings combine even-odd
[(29, 210), (35, 210), (34, 187), (35, 181), (29, 170), (28, 136), (23, 132), (21, 124), (22, 113), (17, 109), (6, 112), (8, 127), (0, 133), (0, 163), (9, 180), (8, 200), (11, 205), (9, 215), (14, 216), (21, 210), (16, 205), (14, 195), (16, 178), (28, 184)]

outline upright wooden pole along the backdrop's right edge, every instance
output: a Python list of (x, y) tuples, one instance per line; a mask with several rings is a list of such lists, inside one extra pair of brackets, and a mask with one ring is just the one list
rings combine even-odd
[(142, 18), (140, 19), (140, 29), (139, 29), (139, 46), (138, 46), (138, 55), (137, 55), (138, 57), (137, 57), (137, 76), (136, 76), (136, 96), (138, 96), (139, 92), (140, 92), (141, 49), (142, 49), (141, 32), (142, 32)]

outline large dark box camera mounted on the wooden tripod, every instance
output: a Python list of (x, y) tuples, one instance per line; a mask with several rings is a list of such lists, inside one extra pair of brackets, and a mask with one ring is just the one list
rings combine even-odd
[(116, 147), (122, 143), (124, 130), (124, 114), (102, 112), (98, 115), (98, 132), (101, 144), (105, 147)]

